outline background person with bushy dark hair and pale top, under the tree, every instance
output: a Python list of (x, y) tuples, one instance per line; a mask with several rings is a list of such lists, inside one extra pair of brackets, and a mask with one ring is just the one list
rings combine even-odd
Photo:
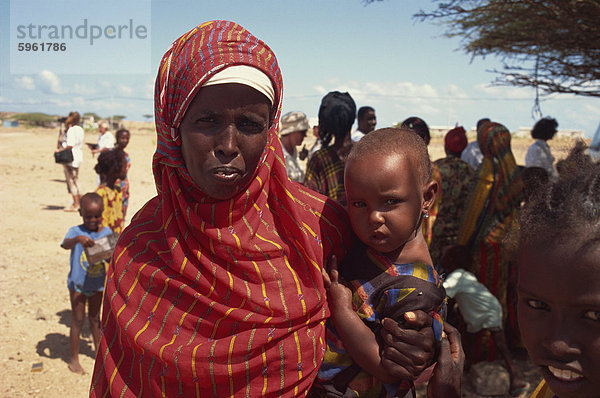
[(535, 142), (527, 149), (525, 167), (541, 167), (546, 170), (551, 179), (556, 179), (558, 173), (554, 168), (554, 156), (550, 152), (548, 140), (551, 140), (558, 128), (556, 119), (545, 117), (538, 120), (531, 130), (531, 138)]

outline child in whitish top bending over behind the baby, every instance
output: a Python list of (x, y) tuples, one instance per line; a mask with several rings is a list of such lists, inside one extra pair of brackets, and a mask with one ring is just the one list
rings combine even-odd
[(509, 394), (513, 397), (521, 395), (527, 388), (527, 384), (517, 377), (506, 344), (502, 329), (502, 306), (475, 275), (463, 269), (468, 269), (471, 263), (468, 249), (460, 245), (448, 246), (444, 249), (440, 263), (442, 268), (449, 272), (444, 280), (446, 294), (456, 300), (460, 314), (467, 325), (467, 335), (464, 337), (467, 360), (469, 357), (474, 357), (473, 344), (468, 343), (475, 340), (468, 334), (477, 333), (482, 329), (489, 330), (494, 344), (506, 362), (510, 377)]

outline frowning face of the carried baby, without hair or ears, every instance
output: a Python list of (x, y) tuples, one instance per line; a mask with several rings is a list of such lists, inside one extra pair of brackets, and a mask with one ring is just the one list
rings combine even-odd
[(423, 184), (405, 155), (367, 155), (346, 164), (345, 186), (352, 229), (367, 246), (396, 261), (416, 236)]

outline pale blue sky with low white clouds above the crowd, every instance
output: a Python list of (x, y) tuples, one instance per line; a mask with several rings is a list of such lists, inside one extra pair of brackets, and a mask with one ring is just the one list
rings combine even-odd
[[(11, 9), (8, 0), (0, 0), (0, 111), (66, 115), (78, 110), (143, 120), (153, 111), (154, 78), (166, 48), (197, 24), (229, 19), (275, 51), (283, 72), (284, 113), (300, 110), (315, 117), (322, 96), (340, 90), (357, 106), (373, 106), (379, 127), (409, 116), (432, 126), (467, 128), (487, 116), (513, 131), (535, 122), (531, 89), (490, 84), (495, 75), (489, 70), (501, 67), (498, 58), (471, 61), (458, 49), (458, 39), (443, 37), (439, 22), (412, 18), (420, 7), (432, 9), (430, 1), (13, 1), (18, 6)], [(11, 22), (77, 25), (84, 18), (105, 27), (131, 19), (147, 25), (148, 37), (98, 40), (87, 49), (79, 43), (78, 56), (73, 56), (74, 40), (66, 41), (63, 53), (17, 51), (19, 42), (38, 40), (17, 39)], [(96, 73), (98, 68), (106, 73)], [(19, 73), (23, 70), (27, 73)], [(595, 98), (555, 95), (542, 102), (542, 111), (561, 129), (583, 130), (588, 137), (600, 122)]]

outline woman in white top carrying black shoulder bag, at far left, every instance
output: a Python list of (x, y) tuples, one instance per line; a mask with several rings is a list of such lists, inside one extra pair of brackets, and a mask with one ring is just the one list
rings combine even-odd
[(81, 192), (77, 179), (79, 176), (79, 166), (83, 161), (83, 140), (84, 132), (79, 126), (81, 116), (79, 112), (70, 112), (67, 120), (65, 120), (65, 128), (67, 133), (65, 135), (64, 142), (62, 143), (61, 149), (71, 148), (73, 153), (73, 161), (68, 164), (63, 164), (65, 172), (65, 179), (67, 181), (67, 190), (73, 197), (73, 203), (67, 207), (65, 211), (78, 211), (79, 210), (79, 199), (81, 198)]

